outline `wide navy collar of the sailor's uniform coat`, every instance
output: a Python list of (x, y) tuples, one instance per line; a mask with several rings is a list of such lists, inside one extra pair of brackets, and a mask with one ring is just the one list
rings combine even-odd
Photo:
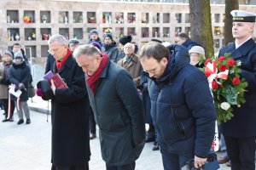
[[(230, 47), (231, 56), (233, 59), (241, 58), (251, 50), (255, 46), (255, 42), (253, 41), (253, 38), (250, 38), (247, 42), (244, 42), (239, 48), (236, 48), (235, 43), (232, 44), (232, 47)], [(235, 49), (236, 48), (236, 49)]]

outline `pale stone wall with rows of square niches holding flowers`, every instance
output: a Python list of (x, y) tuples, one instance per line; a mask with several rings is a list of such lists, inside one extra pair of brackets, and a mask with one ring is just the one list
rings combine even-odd
[[(67, 39), (88, 41), (91, 29), (112, 32), (114, 40), (132, 35), (141, 46), (152, 38), (176, 42), (177, 34), (189, 33), (189, 4), (183, 1), (71, 1), (9, 0), (0, 1), (0, 53), (19, 42), (28, 57), (45, 60), (47, 40), (61, 34)], [(166, 2), (166, 3), (161, 3)], [(241, 5), (256, 12), (256, 6)], [(222, 47), (224, 4), (212, 4), (212, 32), (215, 51)]]

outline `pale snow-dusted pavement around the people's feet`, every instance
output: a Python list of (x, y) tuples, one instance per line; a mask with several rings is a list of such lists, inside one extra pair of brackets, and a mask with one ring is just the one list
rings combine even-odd
[[(40, 105), (41, 104), (41, 105)], [(36, 105), (47, 108), (47, 102), (34, 99), (29, 102), (31, 109)], [(33, 107), (33, 108), (32, 108)], [(45, 111), (44, 111), (45, 112)], [(0, 110), (0, 120), (3, 111)], [(31, 111), (32, 124), (17, 125), (15, 122), (0, 122), (0, 170), (49, 170), (51, 122), (46, 122), (47, 115)], [(153, 144), (145, 144), (142, 155), (137, 160), (137, 170), (161, 170), (162, 162), (159, 151), (152, 151)], [(90, 140), (90, 170), (104, 170), (99, 139)], [(222, 165), (221, 170), (230, 170)]]

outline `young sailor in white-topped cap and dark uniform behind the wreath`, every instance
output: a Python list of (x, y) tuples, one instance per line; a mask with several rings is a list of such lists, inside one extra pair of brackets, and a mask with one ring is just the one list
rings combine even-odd
[(218, 56), (231, 53), (241, 61), (241, 77), (248, 82), (244, 98), (246, 103), (235, 107), (234, 117), (222, 123), (222, 133), (227, 145), (232, 170), (255, 169), (256, 137), (256, 43), (253, 41), (253, 27), (256, 14), (241, 10), (231, 11), (233, 15), (232, 34), (235, 42), (219, 51)]

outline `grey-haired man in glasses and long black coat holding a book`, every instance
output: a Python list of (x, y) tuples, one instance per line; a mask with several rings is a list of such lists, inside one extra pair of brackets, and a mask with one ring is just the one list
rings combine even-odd
[(68, 88), (55, 88), (51, 81), (52, 169), (87, 170), (90, 161), (89, 99), (84, 72), (77, 65), (61, 35), (49, 38), (49, 53), (55, 58), (53, 73), (58, 73)]

